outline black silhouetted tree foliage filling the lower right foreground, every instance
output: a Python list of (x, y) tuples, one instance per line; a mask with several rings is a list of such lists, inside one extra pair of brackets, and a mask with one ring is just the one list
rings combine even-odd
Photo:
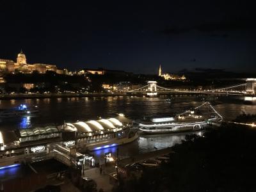
[(204, 137), (186, 136), (170, 163), (113, 191), (255, 191), (256, 130), (222, 124)]

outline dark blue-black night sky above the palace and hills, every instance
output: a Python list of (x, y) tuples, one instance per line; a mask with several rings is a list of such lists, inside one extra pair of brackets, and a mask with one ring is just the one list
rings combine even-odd
[(70, 70), (256, 72), (249, 1), (138, 2), (1, 0), (0, 58), (22, 49), (28, 63)]

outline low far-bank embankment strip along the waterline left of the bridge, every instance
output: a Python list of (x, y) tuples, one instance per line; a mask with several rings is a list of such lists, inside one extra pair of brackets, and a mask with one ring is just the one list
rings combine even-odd
[(45, 98), (65, 98), (65, 97), (115, 97), (125, 96), (126, 93), (15, 93), (12, 95), (0, 95), (0, 100), (11, 99), (45, 99)]

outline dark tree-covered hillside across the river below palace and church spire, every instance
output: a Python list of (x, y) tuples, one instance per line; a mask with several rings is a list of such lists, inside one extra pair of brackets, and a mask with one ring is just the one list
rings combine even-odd
[[(19, 83), (34, 83), (37, 84), (36, 88), (30, 90), (30, 92), (63, 92), (74, 91), (79, 92), (82, 89), (88, 92), (104, 92), (102, 84), (117, 84), (120, 82), (129, 82), (131, 84), (140, 84), (141, 86), (147, 84), (147, 81), (157, 81), (159, 86), (166, 88), (179, 88), (179, 89), (215, 89), (223, 88), (234, 84), (244, 83), (242, 80), (233, 79), (209, 79), (207, 76), (198, 79), (196, 76), (189, 76), (186, 81), (166, 81), (163, 77), (157, 75), (145, 75), (145, 74), (84, 74), (82, 76), (73, 75), (67, 76), (62, 74), (56, 74), (56, 72), (47, 71), (45, 74), (39, 74), (37, 71), (31, 74), (5, 74), (4, 79), (6, 81), (5, 90), (9, 92), (26, 92), (24, 88), (17, 90), (13, 88), (12, 84)], [(56, 86), (58, 88), (56, 88)]]

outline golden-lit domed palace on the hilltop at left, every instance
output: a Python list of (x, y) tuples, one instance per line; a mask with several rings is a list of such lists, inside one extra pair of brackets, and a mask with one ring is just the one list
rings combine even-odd
[(44, 74), (47, 70), (52, 70), (58, 74), (63, 74), (63, 70), (58, 69), (56, 65), (45, 63), (28, 64), (25, 54), (21, 51), (17, 56), (16, 63), (13, 60), (0, 59), (0, 72), (23, 72), (31, 73), (38, 71), (40, 74)]

